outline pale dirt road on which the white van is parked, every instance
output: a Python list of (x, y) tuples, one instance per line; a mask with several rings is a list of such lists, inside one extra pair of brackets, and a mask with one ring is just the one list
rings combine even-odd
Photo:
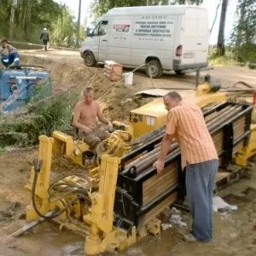
[[(20, 53), (24, 56), (37, 57), (42, 61), (59, 61), (61, 63), (66, 62), (70, 65), (74, 64), (78, 67), (84, 67), (84, 61), (80, 57), (79, 51), (50, 49), (47, 52), (43, 50), (24, 50)], [(220, 81), (223, 88), (235, 84), (238, 81), (252, 84), (256, 88), (256, 70), (246, 67), (213, 67), (212, 70), (201, 72), (201, 81), (203, 81), (203, 77), (207, 73), (210, 73), (213, 79)], [(137, 72), (134, 77), (134, 85), (140, 86), (141, 88), (148, 88), (151, 86), (151, 83), (145, 73)], [(154, 79), (154, 85), (158, 88), (179, 88), (181, 86), (195, 88), (195, 73), (185, 76), (165, 73), (162, 78)]]

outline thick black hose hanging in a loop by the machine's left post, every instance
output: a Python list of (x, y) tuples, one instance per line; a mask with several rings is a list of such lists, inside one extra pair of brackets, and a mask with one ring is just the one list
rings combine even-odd
[(46, 216), (44, 215), (43, 213), (41, 213), (39, 210), (38, 210), (38, 207), (37, 207), (37, 203), (36, 203), (36, 185), (37, 185), (37, 182), (38, 182), (38, 172), (35, 172), (35, 175), (34, 175), (34, 179), (33, 179), (33, 183), (32, 183), (32, 206), (35, 210), (35, 212), (37, 212), (38, 216), (40, 216), (41, 218), (45, 218), (45, 219), (52, 219), (52, 218), (56, 218), (58, 217), (59, 215), (61, 215), (61, 213), (67, 211), (67, 209), (69, 207), (71, 207), (73, 205), (73, 203), (75, 201), (78, 201), (79, 198), (75, 198), (73, 199), (72, 201), (70, 201), (66, 207), (62, 208), (61, 210), (59, 210), (58, 212), (52, 212), (51, 215), (49, 216)]

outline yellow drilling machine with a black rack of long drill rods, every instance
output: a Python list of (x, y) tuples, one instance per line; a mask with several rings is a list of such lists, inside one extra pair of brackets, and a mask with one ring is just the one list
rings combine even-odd
[[(228, 99), (219, 86), (200, 84), (184, 101), (201, 107), (218, 150), (221, 170), (242, 170), (255, 154), (253, 104)], [(125, 124), (92, 152), (73, 136), (54, 131), (39, 137), (38, 159), (26, 185), (32, 202), (26, 220), (53, 219), (85, 237), (84, 253), (122, 250), (147, 234), (160, 234), (160, 212), (184, 201), (180, 148), (172, 144), (165, 170), (153, 167), (165, 134), (167, 112), (161, 98), (132, 110)], [(136, 147), (135, 147), (136, 145)], [(52, 161), (62, 156), (80, 166), (79, 173), (54, 180)], [(233, 172), (232, 171), (232, 172)], [(232, 173), (230, 172), (230, 173)]]

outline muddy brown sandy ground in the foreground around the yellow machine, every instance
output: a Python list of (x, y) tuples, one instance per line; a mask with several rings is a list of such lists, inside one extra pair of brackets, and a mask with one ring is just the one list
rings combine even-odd
[[(55, 224), (45, 223), (20, 238), (9, 236), (20, 228), (24, 221), (26, 204), (30, 201), (24, 185), (29, 177), (29, 167), (36, 150), (1, 154), (0, 190), (0, 255), (84, 255), (84, 238), (64, 230)], [(63, 167), (63, 166), (62, 166)], [(62, 172), (62, 169), (57, 170)], [(238, 183), (220, 192), (225, 201), (238, 206), (237, 211), (216, 212), (213, 221), (213, 239), (208, 243), (186, 243), (182, 237), (189, 230), (190, 217), (187, 213), (173, 209), (162, 214), (163, 224), (170, 224), (160, 236), (148, 236), (137, 245), (116, 255), (209, 255), (209, 256), (253, 256), (256, 253), (256, 169), (253, 176), (242, 178)], [(172, 221), (179, 215), (186, 226)], [(103, 255), (113, 255), (104, 253)]]

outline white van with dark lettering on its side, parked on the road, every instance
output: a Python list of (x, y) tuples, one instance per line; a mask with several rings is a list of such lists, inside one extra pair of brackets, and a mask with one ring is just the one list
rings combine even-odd
[(82, 44), (80, 55), (92, 67), (106, 60), (126, 67), (148, 63), (147, 73), (177, 74), (207, 67), (207, 9), (185, 5), (110, 9)]

